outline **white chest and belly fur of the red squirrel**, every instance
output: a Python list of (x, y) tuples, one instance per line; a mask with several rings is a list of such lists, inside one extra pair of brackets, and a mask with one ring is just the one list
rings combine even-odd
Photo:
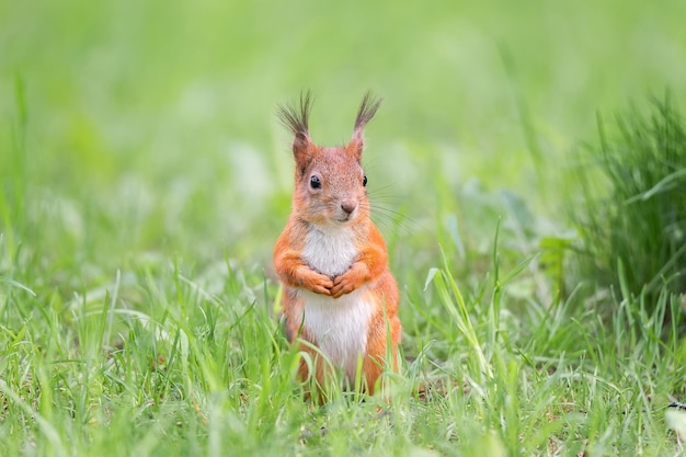
[[(316, 271), (335, 277), (345, 273), (357, 256), (348, 228), (313, 230), (308, 233), (302, 258)], [(317, 345), (353, 381), (359, 355), (367, 346), (367, 330), (374, 302), (365, 286), (338, 299), (301, 290), (305, 327)]]

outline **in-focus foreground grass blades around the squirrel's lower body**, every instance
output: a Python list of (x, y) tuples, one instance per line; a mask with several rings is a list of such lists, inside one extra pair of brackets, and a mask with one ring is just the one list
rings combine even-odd
[[(667, 393), (684, 393), (676, 330), (661, 339), (662, 321), (630, 302), (615, 332), (567, 302), (515, 315), (517, 270), (491, 270), (473, 294), (446, 265), (432, 272), (405, 301), (412, 362), (392, 403), (322, 408), (294, 381), (260, 273), (150, 261), (71, 300), (10, 285), (1, 442), (26, 455), (676, 453), (664, 424)], [(663, 296), (659, 311), (678, 306)]]

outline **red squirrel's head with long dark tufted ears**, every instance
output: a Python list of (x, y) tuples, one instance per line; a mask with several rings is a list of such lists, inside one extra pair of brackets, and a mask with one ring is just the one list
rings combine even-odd
[(367, 176), (362, 168), (363, 129), (381, 104), (369, 92), (357, 111), (353, 138), (347, 146), (320, 147), (309, 135), (312, 106), (310, 92), (300, 95), (297, 106), (279, 105), (278, 117), (295, 135), (296, 160), (294, 212), (318, 226), (343, 226), (369, 215)]

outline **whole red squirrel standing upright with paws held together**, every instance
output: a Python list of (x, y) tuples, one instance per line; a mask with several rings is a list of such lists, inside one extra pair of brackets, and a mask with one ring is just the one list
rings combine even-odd
[[(308, 92), (300, 95), (299, 105), (279, 105), (277, 113), (295, 135), (296, 161), (293, 209), (274, 247), (286, 334), (310, 354), (319, 389), (331, 381), (333, 368), (342, 372), (347, 387), (361, 375), (363, 390), (373, 395), (387, 354), (398, 370), (401, 333), (398, 286), (388, 267), (386, 242), (369, 218), (361, 163), (363, 129), (381, 101), (370, 93), (364, 96), (353, 138), (341, 147), (312, 142), (311, 102)], [(307, 380), (309, 370), (301, 359), (298, 377)]]

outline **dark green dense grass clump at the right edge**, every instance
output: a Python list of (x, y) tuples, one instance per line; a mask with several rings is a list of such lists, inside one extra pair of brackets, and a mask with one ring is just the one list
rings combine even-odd
[(648, 113), (619, 114), (611, 132), (598, 116), (598, 133), (572, 210), (581, 274), (622, 295), (645, 293), (652, 310), (664, 288), (686, 292), (686, 124), (666, 95)]

